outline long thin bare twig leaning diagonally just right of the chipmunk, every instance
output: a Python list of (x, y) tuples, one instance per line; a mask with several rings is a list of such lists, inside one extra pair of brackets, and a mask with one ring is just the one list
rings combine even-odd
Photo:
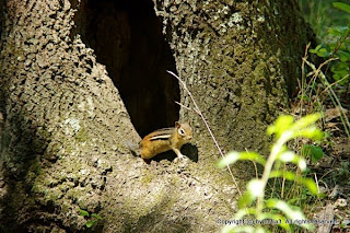
[[(198, 105), (197, 105), (197, 103), (196, 103), (192, 94), (191, 94), (190, 91), (187, 89), (186, 83), (185, 83), (178, 75), (176, 75), (174, 72), (168, 71), (168, 70), (166, 70), (166, 72), (168, 72), (170, 74), (172, 74), (173, 77), (175, 77), (175, 78), (178, 80), (178, 82), (183, 85), (184, 90), (188, 93), (190, 100), (192, 101), (192, 103), (194, 103), (194, 105), (195, 105), (194, 110), (195, 110), (195, 112), (200, 116), (200, 118), (203, 120), (203, 123), (205, 123), (205, 125), (206, 125), (206, 127), (207, 127), (207, 129), (208, 129), (208, 131), (209, 131), (209, 133), (210, 133), (211, 139), (213, 140), (213, 142), (215, 143), (215, 145), (217, 145), (217, 148), (218, 148), (218, 150), (219, 150), (220, 155), (221, 155), (222, 158), (224, 158), (224, 154), (223, 154), (223, 152), (222, 152), (222, 150), (221, 150), (221, 148), (220, 148), (220, 145), (219, 145), (219, 143), (218, 143), (214, 135), (212, 133), (212, 131), (211, 131), (211, 129), (210, 129), (210, 127), (209, 127), (209, 125), (208, 125), (208, 123), (207, 123), (203, 114), (202, 114), (201, 110), (199, 109), (199, 107), (198, 107)], [(234, 185), (235, 185), (236, 188), (237, 188), (237, 191), (238, 191), (240, 196), (242, 196), (242, 193), (241, 193), (241, 190), (240, 190), (238, 184), (237, 184), (237, 182), (236, 182), (236, 179), (235, 179), (235, 177), (234, 177), (234, 175), (233, 175), (233, 173), (232, 173), (232, 170), (231, 170), (231, 167), (229, 166), (229, 164), (226, 164), (226, 167), (228, 167), (228, 170), (229, 170), (229, 173), (230, 173), (230, 175), (231, 175), (231, 177), (232, 177), (232, 180), (233, 180)]]

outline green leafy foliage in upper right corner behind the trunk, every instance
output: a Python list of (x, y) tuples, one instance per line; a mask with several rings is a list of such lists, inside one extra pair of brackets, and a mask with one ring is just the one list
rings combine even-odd
[[(318, 45), (310, 53), (330, 65), (331, 81), (349, 85), (350, 73), (350, 2), (334, 0), (300, 0), (305, 20), (316, 33)], [(328, 70), (328, 68), (327, 68)]]

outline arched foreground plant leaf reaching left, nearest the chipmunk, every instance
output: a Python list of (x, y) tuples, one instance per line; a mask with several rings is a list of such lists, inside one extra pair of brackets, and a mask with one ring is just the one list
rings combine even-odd
[(256, 152), (236, 152), (236, 151), (232, 151), (229, 152), (229, 154), (226, 156), (224, 156), (223, 159), (221, 159), (218, 163), (219, 167), (224, 167), (229, 164), (233, 164), (235, 162), (237, 162), (238, 160), (250, 160), (250, 161), (255, 161), (261, 165), (265, 165), (266, 160), (258, 153)]

